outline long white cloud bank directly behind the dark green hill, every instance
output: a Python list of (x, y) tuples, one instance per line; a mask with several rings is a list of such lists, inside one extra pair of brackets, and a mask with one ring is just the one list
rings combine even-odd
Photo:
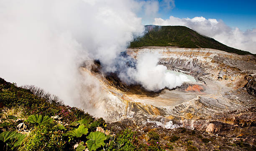
[(161, 26), (187, 26), (227, 46), (256, 54), (256, 29), (243, 32), (239, 28), (230, 28), (222, 20), (206, 19), (204, 17), (181, 19), (170, 16), (166, 20), (155, 18), (153, 24)]

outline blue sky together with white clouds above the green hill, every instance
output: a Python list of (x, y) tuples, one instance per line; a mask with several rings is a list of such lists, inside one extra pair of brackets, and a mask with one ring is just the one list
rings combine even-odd
[(256, 54), (256, 0), (139, 0), (144, 25), (186, 26)]

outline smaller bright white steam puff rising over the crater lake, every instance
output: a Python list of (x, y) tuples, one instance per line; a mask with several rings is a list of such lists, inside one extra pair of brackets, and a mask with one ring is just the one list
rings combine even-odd
[(148, 53), (138, 56), (136, 72), (130, 72), (134, 80), (147, 90), (158, 91), (165, 87), (169, 89), (190, 81), (185, 75), (175, 75), (167, 71), (167, 67), (158, 65), (160, 54)]

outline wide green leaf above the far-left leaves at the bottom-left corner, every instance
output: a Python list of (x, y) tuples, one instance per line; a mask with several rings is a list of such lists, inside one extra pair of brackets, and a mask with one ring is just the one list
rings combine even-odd
[(49, 116), (42, 116), (42, 115), (36, 114), (36, 115), (28, 116), (28, 119), (26, 119), (25, 122), (38, 123), (39, 125), (45, 125), (45, 124), (52, 123), (53, 119), (50, 118)]

